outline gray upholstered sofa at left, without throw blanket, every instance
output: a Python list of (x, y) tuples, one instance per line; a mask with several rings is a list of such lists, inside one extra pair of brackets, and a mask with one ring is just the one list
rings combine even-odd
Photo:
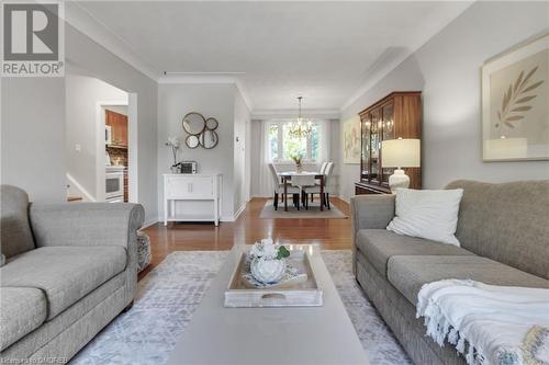
[(0, 199), (0, 362), (68, 361), (133, 303), (143, 207)]

